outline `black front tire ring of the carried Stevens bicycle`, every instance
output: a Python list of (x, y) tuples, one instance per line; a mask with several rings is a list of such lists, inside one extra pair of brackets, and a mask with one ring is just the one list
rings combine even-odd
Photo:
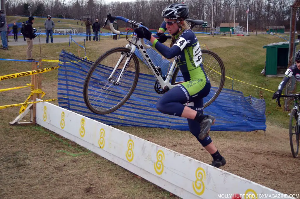
[[(112, 113), (114, 111), (116, 111), (117, 109), (119, 109), (131, 96), (131, 94), (134, 92), (135, 87), (137, 86), (137, 82), (139, 79), (139, 73), (140, 73), (140, 65), (139, 65), (139, 61), (137, 59), (137, 56), (135, 54), (133, 54), (131, 56), (131, 60), (134, 60), (134, 64), (135, 64), (135, 75), (134, 75), (134, 82), (130, 88), (130, 90), (128, 91), (127, 95), (118, 103), (116, 104), (116, 106), (111, 107), (110, 109), (105, 109), (105, 110), (97, 110), (95, 109), (91, 103), (89, 102), (88, 99), (88, 84), (89, 81), (93, 75), (93, 72), (95, 71), (95, 69), (97, 68), (97, 66), (101, 63), (102, 60), (104, 60), (106, 57), (108, 57), (110, 54), (116, 53), (116, 52), (125, 52), (125, 53), (130, 53), (130, 49), (129, 48), (125, 48), (125, 47), (116, 47), (113, 48), (107, 52), (105, 52), (103, 55), (101, 55), (91, 66), (90, 70), (88, 71), (88, 74), (85, 77), (85, 81), (84, 81), (84, 85), (83, 85), (83, 98), (84, 98), (84, 102), (85, 105), (88, 107), (88, 109), (90, 109), (92, 112), (96, 113), (96, 114), (100, 114), (100, 115), (105, 115), (105, 114), (109, 114)], [(126, 57), (126, 56), (125, 56)], [(125, 58), (124, 57), (124, 58)], [(123, 59), (124, 59), (123, 58)], [(130, 61), (131, 61), (130, 60)], [(129, 62), (130, 62), (129, 61)], [(122, 79), (122, 78), (121, 78)], [(108, 82), (108, 80), (107, 80)]]

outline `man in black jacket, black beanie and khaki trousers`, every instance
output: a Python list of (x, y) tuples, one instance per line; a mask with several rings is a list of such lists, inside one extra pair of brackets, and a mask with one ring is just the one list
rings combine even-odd
[(32, 47), (33, 47), (33, 39), (35, 38), (35, 34), (33, 33), (32, 24), (35, 22), (35, 19), (30, 16), (28, 17), (28, 21), (26, 21), (24, 26), (24, 35), (27, 41), (27, 60), (35, 60), (32, 58)]

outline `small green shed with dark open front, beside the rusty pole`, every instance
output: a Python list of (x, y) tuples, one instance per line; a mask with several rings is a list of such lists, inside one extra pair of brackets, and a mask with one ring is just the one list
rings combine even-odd
[[(295, 40), (295, 46), (298, 43), (299, 40)], [(289, 41), (268, 44), (263, 48), (267, 49), (265, 75), (283, 75), (287, 69)]]

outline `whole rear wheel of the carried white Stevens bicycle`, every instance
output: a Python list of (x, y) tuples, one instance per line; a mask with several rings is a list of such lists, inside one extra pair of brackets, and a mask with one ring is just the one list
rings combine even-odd
[[(225, 67), (221, 58), (212, 51), (202, 50), (203, 69), (211, 83), (211, 92), (203, 99), (204, 108), (210, 105), (220, 94), (225, 82)], [(182, 73), (176, 67), (171, 84), (184, 82)]]

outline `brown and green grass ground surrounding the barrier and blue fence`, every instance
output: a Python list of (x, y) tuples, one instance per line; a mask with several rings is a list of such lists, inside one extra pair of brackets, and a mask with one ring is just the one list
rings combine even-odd
[[(260, 75), (265, 62), (263, 45), (280, 42), (270, 35), (199, 36), (201, 44), (216, 52), (223, 60), (226, 75), (269, 90), (277, 90), (282, 78)], [(83, 43), (83, 42), (82, 42)], [(79, 42), (79, 44), (82, 44)], [(127, 41), (103, 39), (86, 44), (87, 56), (95, 61), (105, 51), (125, 46)], [(26, 46), (11, 46), (1, 51), (1, 58), (26, 59)], [(58, 59), (64, 48), (77, 55), (77, 46), (66, 43), (42, 44), (43, 59)], [(81, 57), (84, 56), (80, 49)], [(33, 55), (40, 55), (35, 45)], [(54, 66), (44, 63), (43, 67)], [(23, 72), (31, 64), (1, 61), (0, 75)], [(141, 65), (142, 73), (149, 70)], [(30, 77), (2, 81), (0, 88), (22, 86)], [(232, 81), (226, 80), (226, 88)], [(57, 97), (57, 71), (43, 75), (45, 99)], [(234, 90), (245, 96), (252, 95), (266, 101), (267, 130), (258, 132), (211, 132), (220, 153), (226, 158), (223, 167), (230, 173), (252, 180), (286, 194), (299, 194), (298, 175), (300, 159), (292, 158), (289, 148), (288, 112), (277, 107), (271, 99), (273, 93), (234, 81)], [(22, 103), (29, 89), (1, 92), (1, 105)], [(56, 102), (54, 102), (57, 104)], [(8, 122), (18, 115), (19, 108), (0, 110), (0, 198), (176, 198), (167, 191), (140, 179), (131, 172), (89, 152), (42, 127), (10, 127)], [(176, 152), (211, 163), (210, 155), (188, 131), (160, 128), (121, 127), (128, 133), (150, 140)]]

